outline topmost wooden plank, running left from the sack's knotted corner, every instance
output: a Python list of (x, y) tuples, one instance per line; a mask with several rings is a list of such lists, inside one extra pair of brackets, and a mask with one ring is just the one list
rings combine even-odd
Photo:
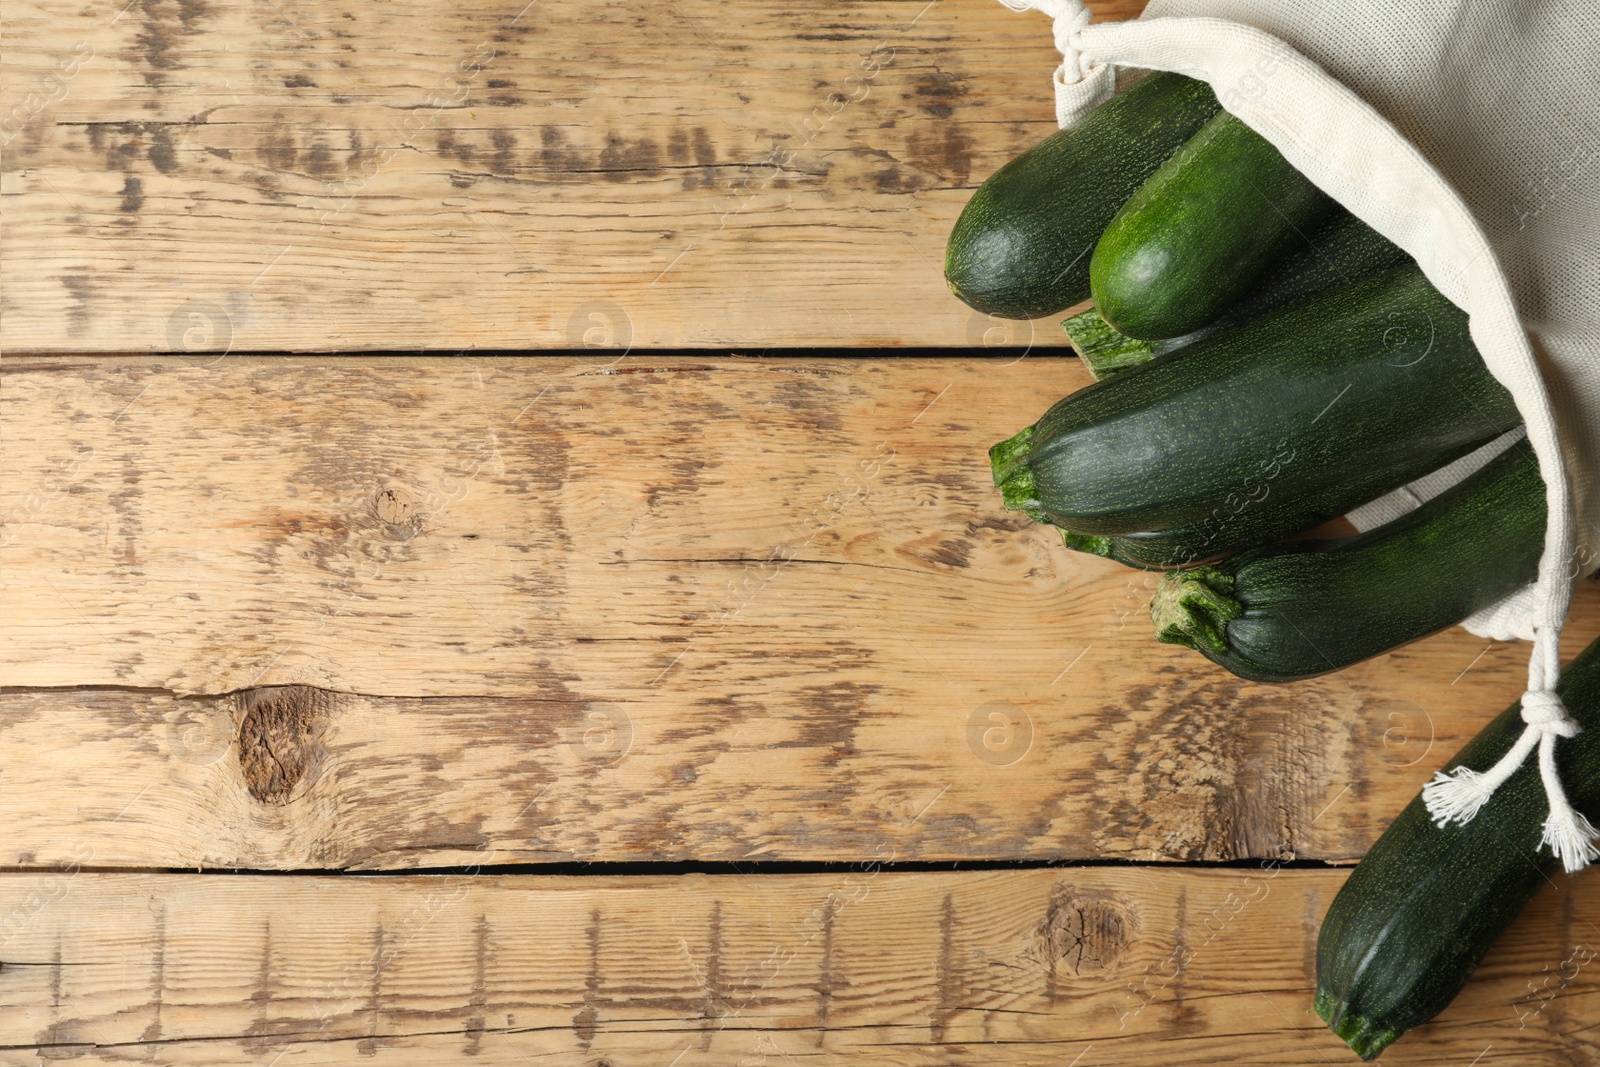
[(941, 277), (1054, 128), (1038, 14), (22, 0), (0, 40), (6, 350), (1062, 344)]

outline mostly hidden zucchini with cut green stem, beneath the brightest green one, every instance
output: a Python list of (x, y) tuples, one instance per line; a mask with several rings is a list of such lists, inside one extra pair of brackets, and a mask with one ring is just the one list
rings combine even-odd
[(1405, 262), (1410, 262), (1410, 256), (1398, 245), (1344, 208), (1334, 208), (1333, 216), (1312, 230), (1253, 293), (1195, 333), (1165, 341), (1139, 341), (1114, 330), (1098, 307), (1078, 312), (1062, 322), (1061, 328), (1098, 381), (1182, 349), (1214, 331), (1230, 330), (1278, 307)]

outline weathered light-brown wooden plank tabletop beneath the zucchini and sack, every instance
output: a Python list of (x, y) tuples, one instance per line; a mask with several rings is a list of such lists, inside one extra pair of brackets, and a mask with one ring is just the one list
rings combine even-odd
[[(1317, 923), (1525, 653), (1242, 683), (1000, 509), (1086, 376), (939, 258), (1051, 128), (1048, 22), (3, 43), (0, 1062), (1354, 1062)], [(1592, 1062), (1597, 901), (1384, 1062)]]

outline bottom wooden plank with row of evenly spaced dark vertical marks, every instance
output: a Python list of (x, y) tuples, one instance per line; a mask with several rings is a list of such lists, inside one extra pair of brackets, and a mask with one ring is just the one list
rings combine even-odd
[[(1322, 1067), (1355, 1062), (1307, 1011), (1342, 878), (10, 873), (0, 1062)], [(1597, 902), (1549, 888), (1384, 1062), (1594, 1062), (1600, 985), (1558, 969)]]

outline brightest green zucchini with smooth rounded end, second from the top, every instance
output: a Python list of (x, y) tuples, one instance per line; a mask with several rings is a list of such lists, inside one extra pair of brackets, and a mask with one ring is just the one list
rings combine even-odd
[(1146, 341), (1211, 323), (1306, 242), (1334, 200), (1219, 112), (1110, 221), (1090, 258), (1101, 317)]

